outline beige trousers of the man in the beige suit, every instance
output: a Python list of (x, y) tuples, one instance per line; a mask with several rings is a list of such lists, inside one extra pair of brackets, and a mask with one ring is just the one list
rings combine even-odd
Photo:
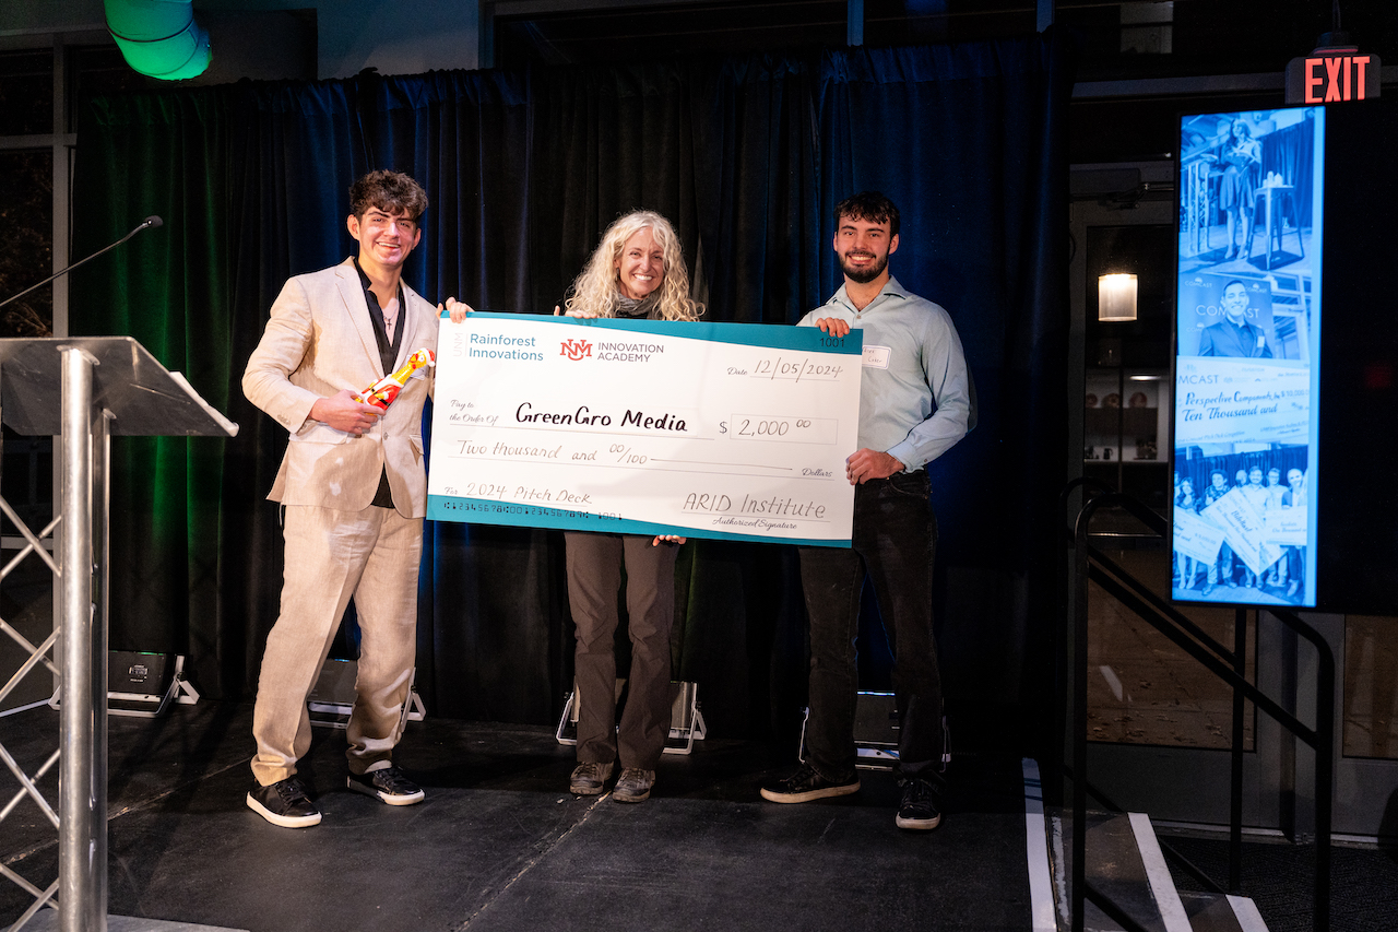
[(281, 616), (267, 635), (253, 708), (253, 777), (267, 786), (296, 772), (310, 747), (306, 696), (354, 596), (359, 679), (350, 715), (350, 770), (390, 760), (401, 737), (417, 654), (422, 519), (391, 508), (288, 505)]

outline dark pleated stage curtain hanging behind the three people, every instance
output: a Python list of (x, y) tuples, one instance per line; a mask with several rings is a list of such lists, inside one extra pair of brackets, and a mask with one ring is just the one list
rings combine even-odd
[[(1067, 462), (1064, 57), (1035, 36), (91, 101), (77, 252), (151, 213), (166, 225), (82, 270), (73, 332), (136, 336), (242, 424), (224, 442), (116, 442), (113, 647), (187, 652), (204, 693), (250, 694), (277, 614), (264, 495), (285, 435), (239, 379), (282, 281), (350, 255), (361, 172), (397, 168), (426, 189), (405, 278), (428, 299), (549, 312), (603, 227), (650, 207), (675, 223), (707, 318), (754, 323), (793, 323), (835, 291), (830, 210), (879, 188), (903, 211), (893, 273), (951, 311), (979, 389), (977, 428), (931, 469), (952, 719), (1000, 735), (1035, 722), (1051, 705)], [(426, 533), (429, 708), (552, 721), (572, 668), (561, 535)], [(700, 683), (710, 733), (784, 730), (805, 683), (794, 550), (695, 542), (678, 581), (677, 676)], [(868, 614), (877, 684), (886, 649)]]

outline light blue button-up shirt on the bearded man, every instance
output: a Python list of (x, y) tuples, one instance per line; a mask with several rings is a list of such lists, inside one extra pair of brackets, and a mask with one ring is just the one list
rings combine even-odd
[(886, 451), (914, 470), (966, 435), (974, 423), (974, 400), (960, 337), (945, 308), (889, 276), (863, 311), (854, 309), (840, 285), (800, 326), (815, 326), (821, 318), (864, 330), (860, 448)]

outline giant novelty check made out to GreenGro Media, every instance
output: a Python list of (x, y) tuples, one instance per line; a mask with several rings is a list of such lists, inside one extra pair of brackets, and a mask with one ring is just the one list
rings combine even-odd
[(863, 334), (442, 319), (428, 518), (849, 546)]

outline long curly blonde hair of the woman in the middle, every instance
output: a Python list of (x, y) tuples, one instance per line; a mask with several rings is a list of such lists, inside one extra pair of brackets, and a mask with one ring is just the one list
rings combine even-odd
[(600, 318), (617, 316), (617, 299), (621, 297), (617, 262), (626, 241), (642, 230), (650, 230), (665, 257), (665, 274), (658, 288), (660, 318), (698, 320), (703, 315), (703, 305), (689, 297), (689, 271), (679, 255), (679, 236), (670, 221), (653, 210), (633, 210), (607, 228), (603, 241), (569, 288), (570, 297), (563, 302), (566, 311), (586, 309)]

